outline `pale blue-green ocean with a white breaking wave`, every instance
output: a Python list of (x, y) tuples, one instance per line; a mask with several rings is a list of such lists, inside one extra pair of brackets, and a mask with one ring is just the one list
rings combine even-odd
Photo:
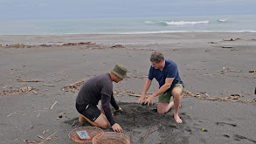
[(1, 21), (0, 35), (256, 32), (256, 15)]

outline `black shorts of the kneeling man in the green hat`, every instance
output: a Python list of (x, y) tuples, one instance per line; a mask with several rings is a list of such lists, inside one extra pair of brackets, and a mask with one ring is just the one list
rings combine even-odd
[(95, 121), (100, 116), (100, 110), (96, 105), (76, 104), (75, 106), (80, 114), (84, 115), (87, 119), (91, 121)]

